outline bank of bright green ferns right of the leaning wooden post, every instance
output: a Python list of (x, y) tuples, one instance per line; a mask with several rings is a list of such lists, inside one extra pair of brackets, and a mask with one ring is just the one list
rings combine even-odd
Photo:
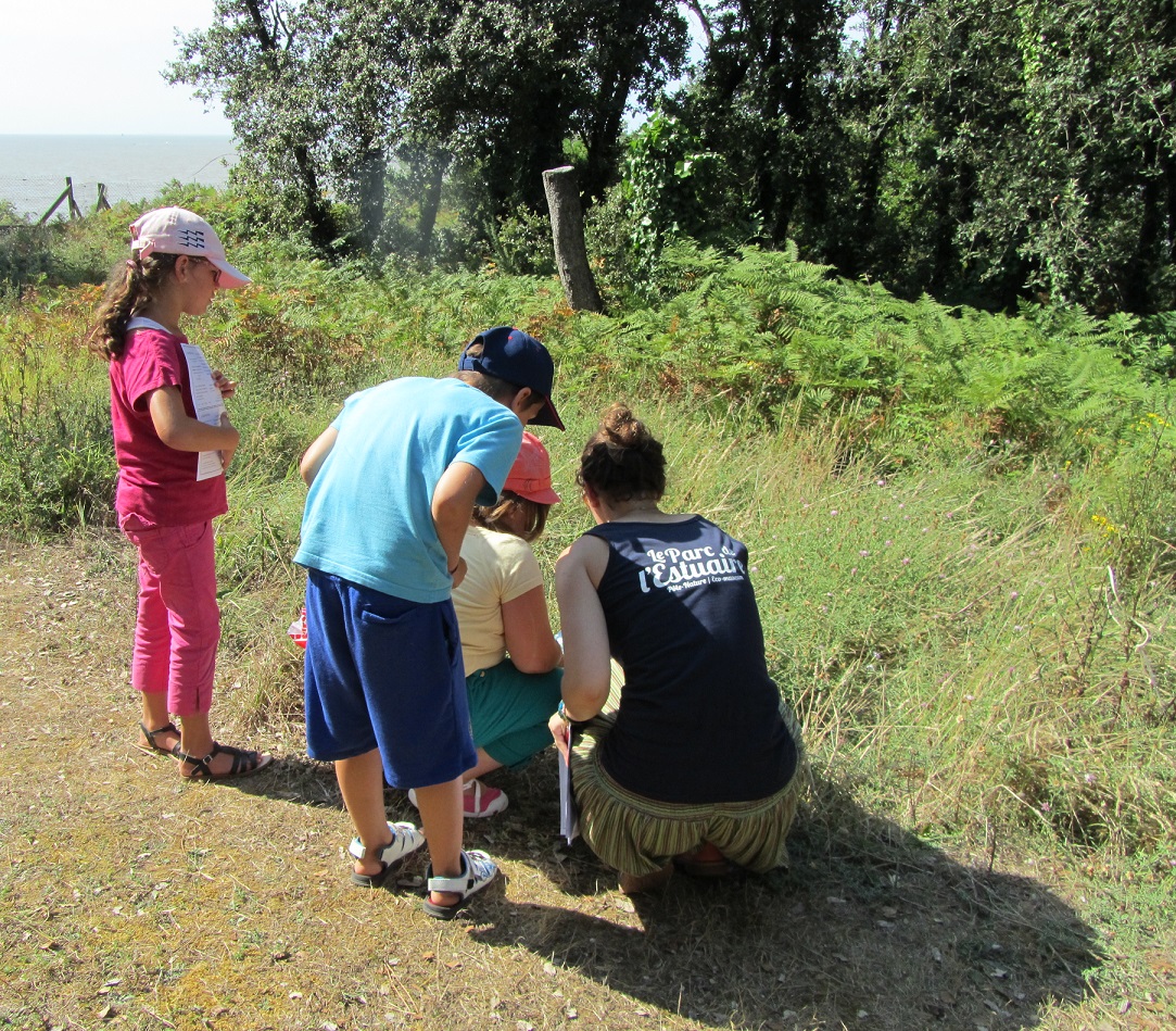
[(795, 248), (670, 247), (654, 280), (669, 299), (616, 320), (608, 350), (635, 377), (748, 399), (776, 423), (835, 415), (847, 446), (891, 464), (947, 440), (1007, 458), (1114, 452), (1164, 390), (1124, 367), (1124, 344), (1145, 345), (1121, 320), (908, 304), (829, 272)]

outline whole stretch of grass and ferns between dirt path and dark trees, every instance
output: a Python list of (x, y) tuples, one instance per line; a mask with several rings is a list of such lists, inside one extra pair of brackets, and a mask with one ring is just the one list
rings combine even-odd
[[(579, 451), (627, 400), (666, 443), (668, 504), (748, 544), (826, 781), (931, 837), (1174, 854), (1176, 401), (1107, 327), (903, 306), (754, 257), (695, 262), (688, 295), (617, 319), (572, 313), (548, 279), (234, 260), (258, 285), (189, 328), (241, 385), (218, 564), (223, 667), (256, 719), (300, 711), (302, 450), (350, 392), (442, 374), (514, 322), (560, 360), (568, 425), (543, 433), (564, 497), (544, 565), (587, 528)], [(0, 305), (8, 533), (109, 524), (106, 370), (80, 347), (96, 298)]]

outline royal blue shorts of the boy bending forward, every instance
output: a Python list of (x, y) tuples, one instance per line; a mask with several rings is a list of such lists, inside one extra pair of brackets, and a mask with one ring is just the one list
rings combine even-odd
[(427, 787), (477, 763), (457, 616), (309, 570), (306, 741), (335, 761), (380, 750), (393, 787)]

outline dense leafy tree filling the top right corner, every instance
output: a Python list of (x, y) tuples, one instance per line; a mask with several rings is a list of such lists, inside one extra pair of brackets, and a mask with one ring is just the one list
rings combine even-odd
[(1020, 134), (964, 234), (1013, 235), (1029, 288), (1098, 311), (1176, 305), (1176, 13), (1168, 0), (1017, 8)]

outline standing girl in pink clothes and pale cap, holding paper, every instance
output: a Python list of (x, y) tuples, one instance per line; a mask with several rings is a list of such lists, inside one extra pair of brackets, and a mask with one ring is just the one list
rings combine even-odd
[(227, 511), (225, 470), (240, 437), (222, 399), (236, 384), (209, 368), (180, 318), (203, 314), (218, 288), (249, 279), (225, 260), (212, 226), (183, 208), (147, 212), (131, 232), (132, 257), (107, 281), (91, 346), (109, 361), (114, 506), (139, 550), (138, 746), (174, 756), (182, 777), (220, 780), (270, 757), (218, 744), (208, 723), (220, 641), (212, 520)]

